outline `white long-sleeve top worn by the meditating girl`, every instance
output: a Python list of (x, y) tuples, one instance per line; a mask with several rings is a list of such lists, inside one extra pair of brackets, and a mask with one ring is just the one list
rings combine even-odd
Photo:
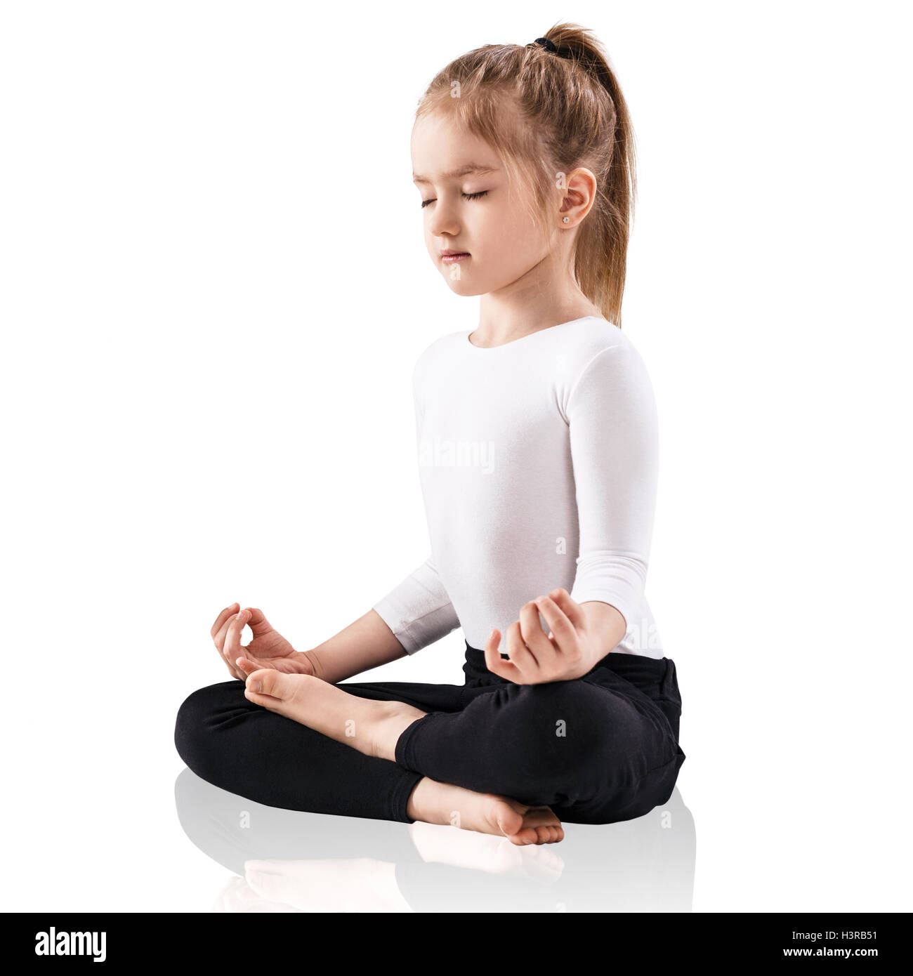
[(522, 604), (564, 587), (621, 613), (616, 652), (661, 658), (643, 595), (658, 444), (640, 354), (592, 316), (502, 346), (470, 334), (416, 363), (432, 554), (374, 609), (410, 654), (458, 627), (479, 650), (496, 627), (506, 651)]

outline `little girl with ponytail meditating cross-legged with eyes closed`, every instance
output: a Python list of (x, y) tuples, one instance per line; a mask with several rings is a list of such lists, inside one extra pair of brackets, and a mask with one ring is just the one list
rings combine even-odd
[[(271, 806), (551, 843), (561, 821), (665, 803), (685, 761), (643, 598), (655, 404), (617, 324), (631, 123), (598, 42), (560, 24), (448, 64), (412, 160), (432, 261), (480, 296), (477, 328), (414, 373), (431, 555), (311, 650), (226, 607), (212, 636), (234, 680), (187, 698), (175, 743)], [(458, 627), (463, 685), (345, 680)]]

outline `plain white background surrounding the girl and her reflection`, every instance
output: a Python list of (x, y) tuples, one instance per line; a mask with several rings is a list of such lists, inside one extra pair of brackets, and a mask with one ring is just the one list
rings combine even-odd
[(175, 712), (232, 600), (304, 648), (425, 558), (411, 371), (477, 303), (424, 251), (412, 113), (559, 19), (638, 137), (693, 909), (913, 908), (903, 5), (0, 11), (4, 909), (210, 911)]

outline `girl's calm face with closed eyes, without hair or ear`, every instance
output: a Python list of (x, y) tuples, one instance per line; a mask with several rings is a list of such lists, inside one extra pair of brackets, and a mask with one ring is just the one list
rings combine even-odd
[(412, 170), (428, 253), (457, 295), (502, 291), (548, 257), (532, 201), (508, 185), (494, 149), (445, 114), (415, 123)]

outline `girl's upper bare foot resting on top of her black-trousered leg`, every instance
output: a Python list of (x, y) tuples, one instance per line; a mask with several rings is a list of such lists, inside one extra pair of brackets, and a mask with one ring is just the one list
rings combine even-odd
[[(240, 659), (238, 659), (240, 661)], [(395, 761), (396, 740), (427, 712), (403, 702), (359, 698), (311, 674), (261, 669), (247, 676), (244, 695), (358, 752)]]

